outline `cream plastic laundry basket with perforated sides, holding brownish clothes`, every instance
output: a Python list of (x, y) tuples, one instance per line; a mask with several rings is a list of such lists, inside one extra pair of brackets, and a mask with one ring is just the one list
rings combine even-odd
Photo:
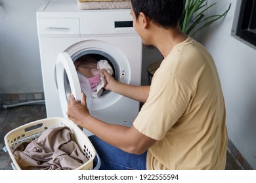
[[(20, 170), (20, 166), (16, 162), (14, 155), (12, 154), (11, 147), (20, 144), (24, 141), (33, 141), (37, 139), (47, 129), (53, 129), (55, 127), (68, 126), (73, 132), (75, 142), (79, 146), (81, 152), (89, 159), (86, 163), (77, 167), (77, 170), (90, 170), (93, 169), (93, 159), (96, 156), (95, 148), (88, 137), (70, 120), (65, 118), (46, 118), (43, 120), (37, 120), (29, 124), (22, 125), (16, 129), (12, 129), (7, 135), (5, 135), (5, 146), (9, 155), (11, 156), (13, 169)], [(97, 156), (98, 158), (98, 156)], [(99, 158), (98, 158), (99, 159)]]

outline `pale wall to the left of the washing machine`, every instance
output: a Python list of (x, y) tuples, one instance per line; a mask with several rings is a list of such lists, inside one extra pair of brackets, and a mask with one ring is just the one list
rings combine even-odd
[(35, 12), (44, 0), (0, 0), (0, 93), (43, 92)]

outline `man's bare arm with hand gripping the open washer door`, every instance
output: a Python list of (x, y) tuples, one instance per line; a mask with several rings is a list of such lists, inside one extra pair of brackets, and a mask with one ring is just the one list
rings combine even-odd
[(142, 154), (156, 142), (156, 140), (140, 133), (133, 126), (107, 124), (90, 116), (84, 94), (82, 95), (81, 103), (76, 103), (73, 95), (70, 95), (67, 114), (68, 118), (75, 124), (85, 127), (102, 141), (125, 152)]

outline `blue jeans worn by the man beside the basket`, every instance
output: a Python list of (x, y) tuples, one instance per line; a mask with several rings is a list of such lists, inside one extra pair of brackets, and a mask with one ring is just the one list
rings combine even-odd
[[(146, 152), (141, 155), (129, 154), (107, 144), (95, 135), (89, 136), (100, 157), (100, 170), (146, 170)], [(97, 159), (94, 159), (96, 165)]]

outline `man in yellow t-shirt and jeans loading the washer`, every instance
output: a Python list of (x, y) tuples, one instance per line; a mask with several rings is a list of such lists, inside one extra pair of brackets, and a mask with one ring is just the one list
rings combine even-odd
[[(144, 103), (132, 127), (90, 116), (70, 95), (68, 116), (89, 129), (102, 169), (224, 169), (227, 133), (221, 83), (211, 55), (179, 27), (181, 0), (132, 0), (142, 42), (163, 55), (151, 86), (117, 82), (106, 90)], [(117, 114), (118, 115), (118, 114)], [(101, 140), (100, 140), (101, 139)]]

